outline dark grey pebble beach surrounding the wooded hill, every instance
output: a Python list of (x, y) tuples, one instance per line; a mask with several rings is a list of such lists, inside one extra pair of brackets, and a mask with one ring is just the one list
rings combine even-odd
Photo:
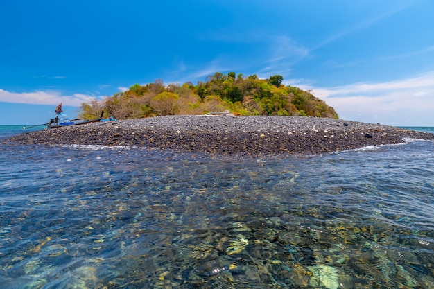
[(434, 140), (434, 134), (388, 125), (297, 116), (157, 116), (19, 134), (5, 143), (130, 146), (211, 155), (317, 155)]

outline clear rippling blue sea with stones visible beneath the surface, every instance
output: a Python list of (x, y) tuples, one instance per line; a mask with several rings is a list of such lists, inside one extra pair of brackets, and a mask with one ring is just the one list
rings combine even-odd
[[(0, 126), (0, 288), (434, 288), (434, 143), (306, 157)], [(409, 128), (434, 133), (434, 128)]]

